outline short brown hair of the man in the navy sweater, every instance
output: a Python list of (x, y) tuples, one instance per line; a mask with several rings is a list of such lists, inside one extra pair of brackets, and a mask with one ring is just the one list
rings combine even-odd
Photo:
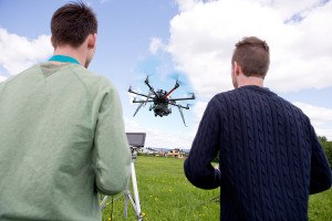
[(236, 44), (231, 64), (237, 62), (246, 76), (264, 77), (270, 65), (270, 52), (267, 42), (257, 36), (243, 38)]

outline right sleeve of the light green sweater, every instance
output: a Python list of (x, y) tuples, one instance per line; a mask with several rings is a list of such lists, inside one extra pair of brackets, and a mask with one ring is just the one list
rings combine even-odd
[(115, 88), (104, 94), (94, 138), (95, 182), (98, 192), (116, 194), (129, 177), (131, 152), (124, 129), (121, 102)]

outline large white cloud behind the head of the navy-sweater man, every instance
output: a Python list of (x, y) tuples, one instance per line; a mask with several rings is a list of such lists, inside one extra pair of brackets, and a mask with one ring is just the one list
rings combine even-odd
[[(189, 2), (189, 3), (188, 3)], [(271, 65), (266, 85), (278, 92), (332, 85), (332, 2), (183, 1), (170, 21), (167, 51), (205, 101), (231, 90), (230, 57), (242, 36), (268, 42)], [(184, 7), (186, 3), (190, 7)], [(299, 13), (304, 19), (286, 21)]]

